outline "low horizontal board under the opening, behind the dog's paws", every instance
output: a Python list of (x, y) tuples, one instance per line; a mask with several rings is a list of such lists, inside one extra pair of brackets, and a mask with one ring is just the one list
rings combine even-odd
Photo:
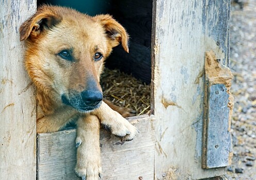
[[(131, 118), (140, 130), (138, 136), (129, 142), (101, 130), (100, 146), (103, 179), (154, 178), (154, 130), (149, 116)], [(39, 180), (78, 179), (75, 177), (76, 131), (65, 130), (51, 134), (38, 134)], [(53, 171), (54, 169), (54, 171)]]

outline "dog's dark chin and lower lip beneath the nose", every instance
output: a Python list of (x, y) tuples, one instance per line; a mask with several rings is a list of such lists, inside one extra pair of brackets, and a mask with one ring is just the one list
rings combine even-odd
[(99, 102), (97, 105), (86, 105), (85, 103), (72, 103), (66, 98), (66, 96), (62, 96), (61, 100), (64, 104), (73, 107), (75, 110), (81, 113), (90, 113), (93, 110), (98, 109), (102, 103), (102, 101)]

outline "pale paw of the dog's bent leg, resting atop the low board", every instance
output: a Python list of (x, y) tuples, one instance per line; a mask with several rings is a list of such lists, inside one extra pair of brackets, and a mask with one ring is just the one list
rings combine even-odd
[(129, 121), (122, 118), (116, 121), (115, 124), (103, 124), (103, 127), (121, 139), (121, 141), (130, 141), (139, 133)]

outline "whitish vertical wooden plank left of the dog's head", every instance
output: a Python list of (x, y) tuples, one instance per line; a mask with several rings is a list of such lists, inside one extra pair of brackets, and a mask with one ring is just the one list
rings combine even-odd
[(36, 179), (36, 101), (19, 27), (36, 1), (0, 2), (0, 179)]

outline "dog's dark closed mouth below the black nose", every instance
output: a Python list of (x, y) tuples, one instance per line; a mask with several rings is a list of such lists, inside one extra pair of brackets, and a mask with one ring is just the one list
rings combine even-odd
[(61, 95), (61, 100), (64, 104), (73, 107), (75, 110), (81, 113), (89, 113), (95, 109), (98, 109), (102, 103), (102, 100), (94, 104), (86, 104), (79, 96), (68, 98), (65, 94)]

